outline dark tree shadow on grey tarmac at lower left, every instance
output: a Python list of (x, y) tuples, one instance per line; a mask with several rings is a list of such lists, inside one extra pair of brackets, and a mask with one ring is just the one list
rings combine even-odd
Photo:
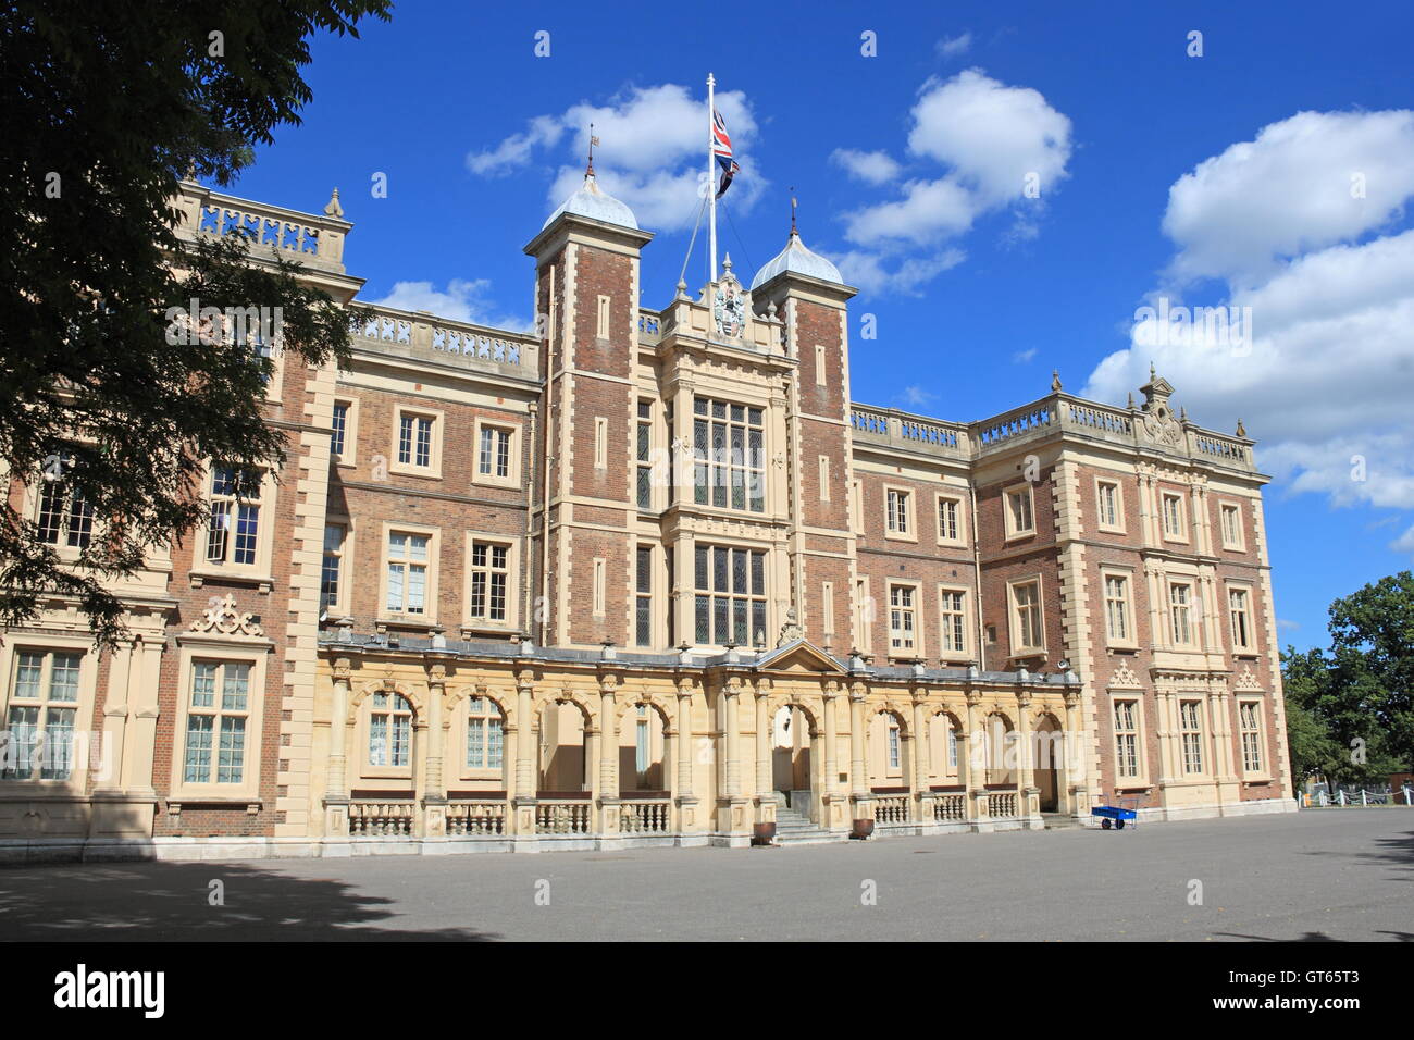
[[(223, 904), (212, 906), (214, 882)], [(0, 941), (501, 938), (471, 928), (399, 928), (390, 903), (332, 877), (290, 877), (250, 863), (16, 867), (0, 870)]]

